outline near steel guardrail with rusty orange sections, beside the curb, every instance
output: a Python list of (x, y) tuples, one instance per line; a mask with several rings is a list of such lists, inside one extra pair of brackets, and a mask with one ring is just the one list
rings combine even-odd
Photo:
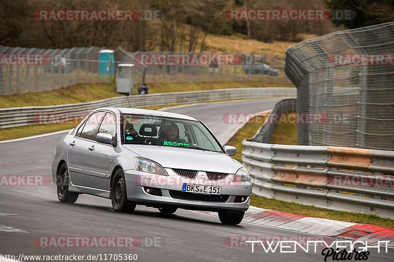
[(253, 193), (328, 210), (394, 219), (394, 152), (244, 140)]

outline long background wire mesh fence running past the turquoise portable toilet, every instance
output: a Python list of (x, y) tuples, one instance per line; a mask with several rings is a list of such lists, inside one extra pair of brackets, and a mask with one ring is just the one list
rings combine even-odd
[[(237, 54), (241, 63), (223, 64), (213, 68), (209, 64), (143, 64), (138, 56), (180, 55), (174, 52), (134, 52), (118, 47), (37, 49), (10, 48), (0, 45), (0, 95), (40, 92), (68, 87), (79, 83), (114, 83), (117, 65), (132, 63), (133, 85), (152, 82), (219, 82), (263, 81), (290, 83), (284, 74), (283, 59), (276, 56)], [(194, 53), (187, 53), (193, 55)], [(198, 53), (201, 55), (201, 53)], [(37, 60), (38, 58), (38, 60)], [(258, 58), (258, 59), (257, 59)], [(258, 61), (250, 64), (247, 60)], [(270, 64), (263, 68), (263, 64)], [(275, 73), (278, 70), (278, 73)]]

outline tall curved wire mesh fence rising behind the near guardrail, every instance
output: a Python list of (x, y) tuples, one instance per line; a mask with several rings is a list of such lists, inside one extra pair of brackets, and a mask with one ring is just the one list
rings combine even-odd
[(297, 87), (298, 145), (394, 150), (394, 23), (330, 33), (286, 52)]

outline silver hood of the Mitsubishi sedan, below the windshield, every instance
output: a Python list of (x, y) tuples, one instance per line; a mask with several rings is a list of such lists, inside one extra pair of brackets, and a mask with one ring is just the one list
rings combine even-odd
[(229, 155), (191, 148), (122, 145), (132, 152), (156, 161), (164, 168), (190, 169), (235, 174), (242, 165)]

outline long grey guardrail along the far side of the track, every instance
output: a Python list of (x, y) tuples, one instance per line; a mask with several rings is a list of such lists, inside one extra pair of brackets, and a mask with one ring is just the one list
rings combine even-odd
[[(189, 91), (133, 95), (129, 97), (131, 107), (162, 106), (169, 104), (211, 102), (234, 99), (295, 97), (292, 87), (228, 88), (207, 91)], [(0, 128), (33, 125), (39, 114), (87, 115), (99, 107), (129, 107), (126, 96), (99, 101), (58, 106), (34, 106), (0, 109)]]

